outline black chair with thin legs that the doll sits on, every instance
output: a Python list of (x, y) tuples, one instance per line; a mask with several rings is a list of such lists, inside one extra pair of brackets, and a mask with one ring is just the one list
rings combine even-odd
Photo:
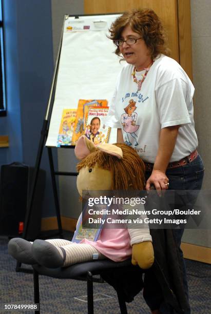
[[(39, 275), (49, 276), (60, 279), (75, 279), (75, 280), (86, 280), (87, 282), (87, 307), (88, 314), (93, 313), (93, 282), (96, 281), (93, 276), (100, 275), (103, 279), (108, 277), (114, 284), (112, 286), (117, 291), (118, 301), (120, 305), (120, 311), (122, 314), (127, 314), (127, 307), (125, 304), (125, 297), (123, 286), (120, 278), (123, 278), (125, 273), (128, 273), (128, 278), (132, 278), (137, 275), (140, 276), (140, 288), (137, 293), (141, 290), (142, 285), (142, 270), (138, 266), (131, 264), (131, 259), (124, 262), (112, 262), (110, 260), (98, 260), (85, 263), (75, 264), (69, 267), (63, 268), (46, 268), (40, 265), (33, 265), (33, 278), (34, 278), (34, 303), (40, 304), (40, 293), (39, 293)], [(133, 274), (133, 275), (131, 275)], [(108, 280), (108, 282), (109, 282)], [(102, 282), (102, 281), (101, 281)], [(132, 298), (133, 299), (133, 298)], [(132, 300), (131, 299), (131, 300)], [(40, 310), (35, 311), (39, 313)]]

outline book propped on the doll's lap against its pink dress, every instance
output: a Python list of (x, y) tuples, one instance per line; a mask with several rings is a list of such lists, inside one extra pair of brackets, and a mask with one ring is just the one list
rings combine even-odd
[[(98, 205), (98, 210), (102, 210), (102, 212), (105, 212), (105, 207), (107, 209), (107, 205)], [(100, 232), (103, 228), (103, 221), (106, 218), (106, 214), (89, 214), (88, 209), (90, 208), (88, 207), (88, 205), (86, 205), (82, 214), (79, 217), (76, 230), (71, 240), (72, 242), (79, 243), (83, 239), (87, 239), (89, 241), (97, 241), (99, 238)], [(98, 223), (95, 223), (95, 221), (98, 221)]]

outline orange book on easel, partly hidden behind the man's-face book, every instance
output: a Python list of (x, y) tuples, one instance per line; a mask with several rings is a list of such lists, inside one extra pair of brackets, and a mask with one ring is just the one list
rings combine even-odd
[(85, 122), (88, 116), (89, 107), (106, 107), (106, 100), (84, 100), (80, 99), (78, 103), (78, 109), (75, 119), (75, 126), (72, 136), (72, 145), (75, 145), (81, 135), (85, 133)]

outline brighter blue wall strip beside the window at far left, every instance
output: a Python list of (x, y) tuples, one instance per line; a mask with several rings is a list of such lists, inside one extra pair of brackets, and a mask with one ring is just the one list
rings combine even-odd
[(9, 135), (10, 148), (0, 149), (0, 165), (23, 161), (21, 105), (18, 82), (17, 3), (3, 2), (5, 25), (5, 63), (7, 116), (0, 117), (0, 134)]

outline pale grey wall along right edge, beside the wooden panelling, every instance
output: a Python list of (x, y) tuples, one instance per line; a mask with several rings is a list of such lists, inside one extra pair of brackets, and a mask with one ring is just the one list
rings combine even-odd
[[(203, 189), (210, 190), (211, 176), (211, 3), (210, 0), (191, 0), (191, 31), (193, 54), (194, 116), (205, 175)], [(211, 247), (211, 230), (185, 230), (183, 242)]]

